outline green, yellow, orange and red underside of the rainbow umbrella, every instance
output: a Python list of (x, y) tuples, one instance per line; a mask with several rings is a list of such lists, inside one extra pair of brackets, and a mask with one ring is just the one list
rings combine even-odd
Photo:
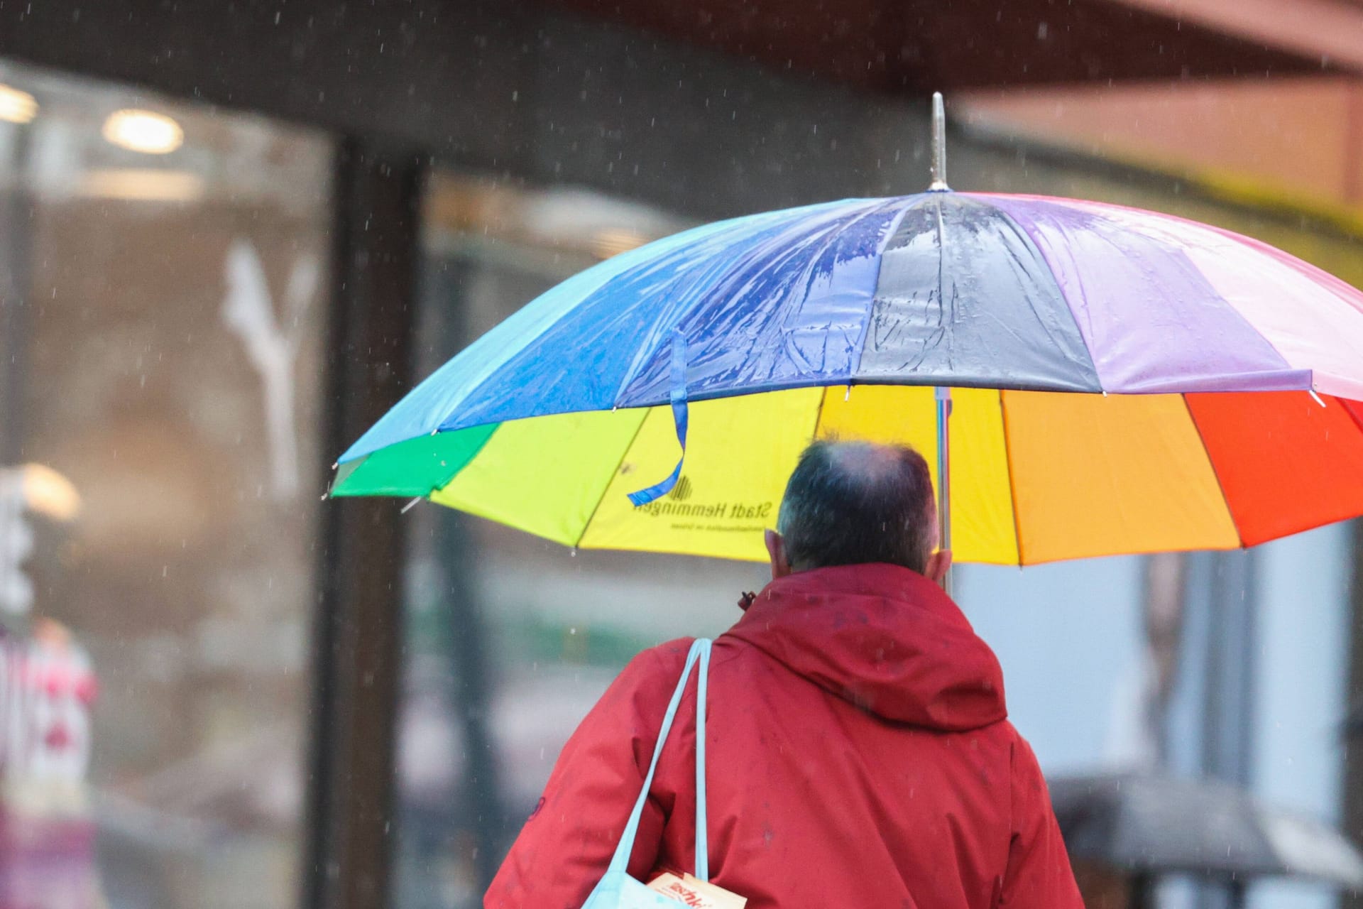
[[(953, 390), (953, 548), (1036, 564), (1231, 549), (1363, 511), (1351, 402), (1306, 392), (1096, 395)], [(936, 469), (934, 390), (816, 387), (440, 433), (345, 465), (334, 495), (427, 495), (570, 546), (762, 560), (785, 480), (822, 437), (908, 443)], [(934, 477), (935, 481), (935, 477)], [(413, 485), (416, 484), (416, 485)]]

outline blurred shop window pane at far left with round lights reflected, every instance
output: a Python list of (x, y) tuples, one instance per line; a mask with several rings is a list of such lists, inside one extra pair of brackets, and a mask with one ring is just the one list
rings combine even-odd
[(292, 905), (330, 144), (0, 86), (0, 902)]

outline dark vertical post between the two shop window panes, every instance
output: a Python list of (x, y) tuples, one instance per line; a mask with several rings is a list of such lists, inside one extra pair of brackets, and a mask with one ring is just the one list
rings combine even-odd
[[(342, 140), (335, 168), (327, 451), (410, 386), (424, 158)], [(322, 508), (304, 909), (388, 902), (403, 523), (394, 503)]]

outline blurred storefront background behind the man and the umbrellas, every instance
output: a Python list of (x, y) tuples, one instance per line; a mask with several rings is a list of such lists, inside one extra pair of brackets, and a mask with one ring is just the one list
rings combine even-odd
[[(594, 262), (923, 189), (934, 90), (954, 188), (1363, 286), (1359, 0), (0, 4), (0, 909), (480, 905), (613, 675), (762, 567), (320, 502), (331, 461)], [(1052, 785), (1358, 841), (1359, 564), (1337, 525), (957, 593)], [(1090, 906), (1363, 905), (1077, 861)]]

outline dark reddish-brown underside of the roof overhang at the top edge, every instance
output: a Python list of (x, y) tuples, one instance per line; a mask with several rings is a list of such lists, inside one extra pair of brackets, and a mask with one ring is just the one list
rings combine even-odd
[(541, 1), (872, 91), (1340, 72), (1340, 61), (1300, 45), (1149, 1)]

